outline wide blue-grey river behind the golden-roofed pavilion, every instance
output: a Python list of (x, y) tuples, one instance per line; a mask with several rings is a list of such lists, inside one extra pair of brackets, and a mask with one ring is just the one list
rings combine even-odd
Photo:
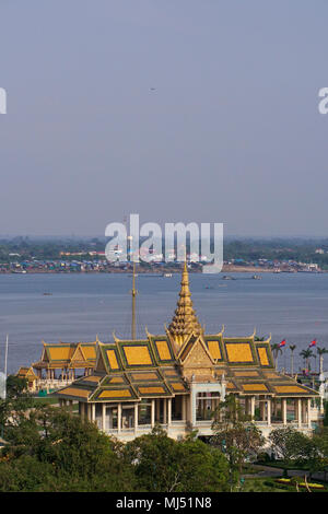
[[(300, 351), (317, 339), (328, 349), (328, 273), (190, 274), (194, 306), (207, 334), (225, 326), (226, 336), (272, 334), (272, 342), (286, 339), (279, 367), (290, 367), (289, 344)], [(9, 373), (39, 359), (42, 341), (113, 340), (129, 338), (131, 324), (129, 274), (3, 274), (0, 276), (0, 370), (9, 334)], [(180, 276), (142, 276), (137, 279), (138, 337), (144, 326), (164, 334), (176, 306)], [(44, 293), (51, 295), (44, 295)], [(318, 367), (313, 359), (312, 367)]]

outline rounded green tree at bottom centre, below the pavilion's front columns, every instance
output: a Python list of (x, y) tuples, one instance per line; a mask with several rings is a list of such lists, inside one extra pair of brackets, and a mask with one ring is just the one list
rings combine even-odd
[(134, 468), (139, 491), (214, 492), (229, 488), (226, 458), (195, 434), (175, 441), (155, 427), (150, 434), (126, 444), (125, 459)]

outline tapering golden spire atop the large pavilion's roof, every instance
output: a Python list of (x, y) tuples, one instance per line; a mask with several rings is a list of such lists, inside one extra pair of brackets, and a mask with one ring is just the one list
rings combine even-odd
[(181, 289), (179, 292), (177, 308), (175, 309), (175, 315), (171, 322), (168, 331), (179, 344), (184, 343), (186, 336), (190, 336), (191, 334), (202, 334), (201, 325), (198, 322), (192, 307), (187, 260), (185, 260), (184, 265)]

